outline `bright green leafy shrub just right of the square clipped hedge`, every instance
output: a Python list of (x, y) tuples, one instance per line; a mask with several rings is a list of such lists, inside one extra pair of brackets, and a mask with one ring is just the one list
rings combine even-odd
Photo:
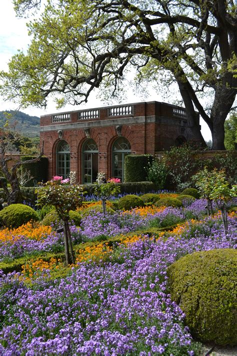
[(157, 189), (163, 189), (167, 176), (167, 167), (160, 159), (154, 159), (147, 164), (147, 180), (153, 182)]

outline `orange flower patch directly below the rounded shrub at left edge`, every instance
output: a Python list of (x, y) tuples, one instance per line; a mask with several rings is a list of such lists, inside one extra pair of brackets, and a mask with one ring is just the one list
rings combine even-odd
[(52, 232), (51, 226), (43, 226), (38, 223), (32, 224), (27, 222), (27, 224), (21, 225), (16, 229), (3, 229), (0, 231), (0, 241), (11, 241), (19, 239), (22, 236), (25, 236), (29, 239), (41, 240), (41, 238)]

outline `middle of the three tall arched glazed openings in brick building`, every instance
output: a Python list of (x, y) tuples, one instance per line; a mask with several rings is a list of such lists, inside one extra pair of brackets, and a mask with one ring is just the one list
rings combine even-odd
[(82, 148), (82, 182), (89, 184), (96, 181), (98, 174), (98, 147), (94, 140), (88, 139)]

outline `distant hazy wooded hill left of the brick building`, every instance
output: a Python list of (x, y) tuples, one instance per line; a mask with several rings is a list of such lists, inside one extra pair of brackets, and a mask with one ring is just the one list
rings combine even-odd
[(22, 136), (39, 136), (39, 117), (30, 116), (22, 113), (21, 111), (0, 111), (0, 127), (3, 127), (6, 122), (6, 117), (4, 113), (11, 114), (11, 118), (8, 120), (9, 126), (15, 125), (15, 130), (19, 132)]

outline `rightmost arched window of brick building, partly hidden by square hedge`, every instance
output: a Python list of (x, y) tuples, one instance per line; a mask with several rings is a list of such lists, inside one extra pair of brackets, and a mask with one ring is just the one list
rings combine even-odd
[(112, 146), (112, 176), (124, 181), (124, 158), (131, 152), (129, 141), (125, 137), (116, 139)]

